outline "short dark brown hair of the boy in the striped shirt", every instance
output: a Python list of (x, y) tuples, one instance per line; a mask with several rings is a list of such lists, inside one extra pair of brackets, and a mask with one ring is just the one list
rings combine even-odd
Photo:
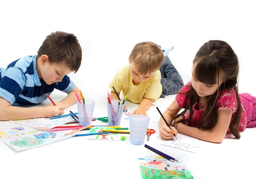
[(66, 64), (77, 72), (82, 60), (82, 49), (74, 34), (56, 31), (48, 35), (38, 50), (38, 56), (47, 55), (50, 63)]

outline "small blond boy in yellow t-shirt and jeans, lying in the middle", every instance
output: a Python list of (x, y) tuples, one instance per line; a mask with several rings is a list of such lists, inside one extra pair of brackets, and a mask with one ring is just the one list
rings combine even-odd
[[(166, 54), (168, 54), (168, 52), (166, 52)], [(121, 90), (123, 90), (124, 95), (129, 93), (127, 99), (133, 103), (140, 103), (139, 107), (135, 109), (132, 114), (146, 115), (146, 110), (149, 109), (153, 101), (157, 100), (161, 95), (169, 95), (162, 93), (166, 91), (166, 87), (163, 86), (162, 88), (161, 81), (164, 82), (164, 85), (168, 84), (164, 78), (161, 79), (161, 72), (159, 71), (163, 60), (163, 51), (157, 44), (153, 42), (138, 43), (134, 46), (129, 56), (129, 65), (118, 70), (109, 84), (111, 89), (113, 89), (113, 86), (115, 87), (118, 95)], [(170, 60), (169, 65), (173, 67)], [(163, 76), (164, 73), (163, 70)], [(172, 74), (174, 74), (174, 72), (172, 72)], [(176, 69), (175, 74), (180, 77)], [(168, 84), (168, 86), (170, 85)], [(178, 90), (182, 86), (183, 81), (182, 84), (177, 87)], [(177, 93), (178, 90), (175, 92), (172, 90), (172, 94)], [(110, 97), (112, 100), (118, 100), (113, 90), (110, 93)]]

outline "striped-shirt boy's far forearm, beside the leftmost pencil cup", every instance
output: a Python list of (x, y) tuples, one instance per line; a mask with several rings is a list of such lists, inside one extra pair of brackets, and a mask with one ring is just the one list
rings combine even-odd
[(78, 100), (76, 95), (75, 95), (75, 91), (78, 94), (79, 98), (82, 99), (82, 97), (80, 95), (80, 90), (78, 89), (78, 87), (75, 86), (74, 89), (70, 93), (68, 93), (66, 98), (64, 98), (63, 100), (61, 100), (59, 102), (55, 102), (55, 104), (64, 106), (64, 109), (66, 109), (66, 108), (70, 107), (71, 105), (75, 104)]

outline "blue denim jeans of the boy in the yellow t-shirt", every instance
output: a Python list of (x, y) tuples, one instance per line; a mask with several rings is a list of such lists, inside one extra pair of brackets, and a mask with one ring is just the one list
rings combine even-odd
[(181, 75), (173, 66), (168, 56), (164, 57), (164, 61), (159, 70), (161, 72), (161, 84), (163, 88), (160, 97), (178, 93), (178, 91), (184, 86), (184, 83)]

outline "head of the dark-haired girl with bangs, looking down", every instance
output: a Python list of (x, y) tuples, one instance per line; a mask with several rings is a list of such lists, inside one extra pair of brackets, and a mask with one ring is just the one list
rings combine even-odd
[(192, 86), (199, 96), (214, 94), (237, 85), (238, 58), (224, 41), (211, 40), (203, 44), (193, 61)]

